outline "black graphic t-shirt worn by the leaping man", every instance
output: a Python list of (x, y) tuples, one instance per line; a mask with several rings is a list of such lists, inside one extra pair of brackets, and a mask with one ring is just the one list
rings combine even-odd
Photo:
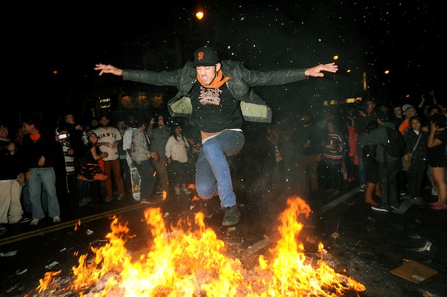
[(188, 97), (193, 104), (190, 122), (200, 131), (212, 133), (241, 128), (243, 117), (239, 100), (233, 98), (226, 84), (212, 89), (197, 82)]

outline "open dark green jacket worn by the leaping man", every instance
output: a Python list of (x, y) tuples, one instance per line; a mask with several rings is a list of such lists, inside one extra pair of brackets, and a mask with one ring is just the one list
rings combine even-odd
[[(124, 80), (158, 86), (175, 86), (179, 90), (168, 102), (168, 110), (172, 116), (189, 118), (193, 112), (190, 98), (186, 97), (197, 82), (195, 67), (187, 62), (183, 68), (174, 71), (151, 72), (146, 70), (122, 71)], [(226, 82), (232, 96), (241, 101), (244, 120), (248, 122), (271, 122), (272, 109), (259, 97), (251, 87), (267, 85), (283, 85), (298, 80), (305, 80), (305, 69), (285, 69), (269, 72), (249, 70), (240, 62), (221, 61), (223, 76), (230, 76)]]

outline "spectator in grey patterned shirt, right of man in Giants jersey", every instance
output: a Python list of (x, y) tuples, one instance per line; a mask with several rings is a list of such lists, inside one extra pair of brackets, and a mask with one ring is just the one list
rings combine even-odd
[(137, 129), (132, 131), (131, 158), (141, 177), (140, 203), (155, 203), (153, 189), (155, 186), (155, 169), (150, 158), (158, 159), (158, 154), (149, 151), (149, 137), (146, 134), (147, 122), (144, 118), (136, 120)]

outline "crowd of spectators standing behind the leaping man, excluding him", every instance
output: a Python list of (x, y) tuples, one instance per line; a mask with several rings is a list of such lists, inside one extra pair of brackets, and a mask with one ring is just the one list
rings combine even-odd
[[(243, 180), (259, 192), (286, 189), (306, 199), (318, 190), (336, 197), (358, 184), (373, 210), (397, 209), (403, 195), (417, 206), (446, 209), (446, 110), (435, 103), (383, 110), (368, 99), (319, 114), (247, 122), (245, 146), (229, 162), (235, 183)], [(383, 148), (371, 151), (383, 139), (381, 126), (402, 130), (406, 143), (402, 159), (388, 156), (386, 168)], [(162, 192), (190, 195), (200, 146), (199, 131), (187, 118), (165, 115), (102, 115), (80, 124), (67, 113), (51, 129), (35, 120), (0, 124), (3, 232), (8, 223), (37, 225), (45, 216), (58, 223), (61, 212), (133, 199), (130, 168), (141, 177), (140, 203), (157, 202)], [(410, 163), (405, 171), (402, 162)], [(436, 203), (427, 205), (426, 185)]]

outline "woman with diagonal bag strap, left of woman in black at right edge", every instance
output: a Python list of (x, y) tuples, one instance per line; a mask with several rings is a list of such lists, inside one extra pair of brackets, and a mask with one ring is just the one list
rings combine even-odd
[[(422, 180), (427, 170), (427, 142), (428, 133), (422, 131), (422, 118), (415, 115), (410, 118), (411, 129), (404, 134), (405, 155), (404, 162), (410, 162), (410, 169), (406, 173), (408, 194), (411, 203), (424, 206), (426, 202), (422, 199)], [(409, 155), (411, 154), (411, 159)]]

